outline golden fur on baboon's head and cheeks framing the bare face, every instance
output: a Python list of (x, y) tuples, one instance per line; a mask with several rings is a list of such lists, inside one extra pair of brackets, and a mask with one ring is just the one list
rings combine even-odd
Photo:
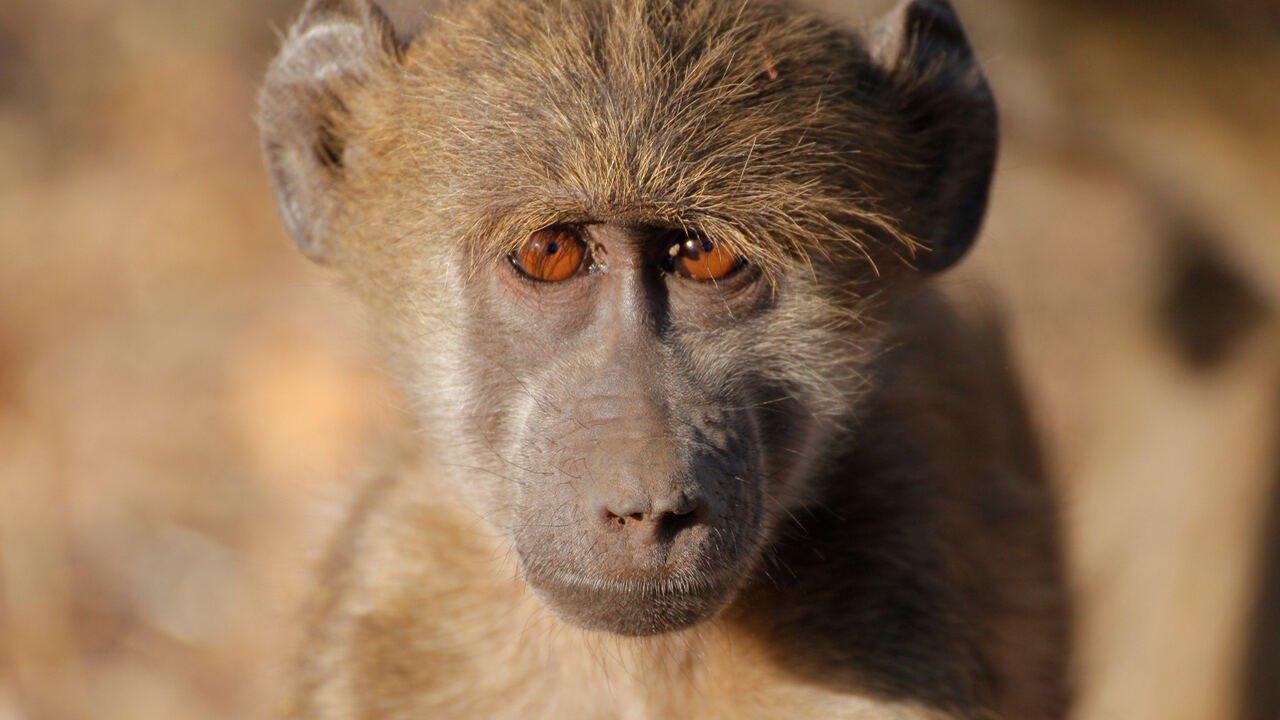
[[(877, 351), (872, 282), (916, 250), (873, 187), (892, 190), (886, 178), (910, 163), (902, 119), (851, 36), (785, 3), (550, 0), (466, 4), (402, 47), (366, 13), (303, 31), (342, 38), (328, 60), (342, 99), (332, 132), (360, 138), (334, 263), (393, 319), (416, 406), (439, 432), (465, 437), (460, 416), (509, 405), (449, 389), (467, 361), (451, 356), (465, 274), (536, 229), (602, 220), (696, 228), (760, 266), (786, 291), (769, 332), (744, 322), (710, 338), (735, 352), (708, 364), (763, 368), (817, 415), (847, 420)], [(307, 58), (278, 68), (292, 61)], [(447, 301), (421, 306), (424, 295)], [(714, 380), (732, 392), (739, 375)]]

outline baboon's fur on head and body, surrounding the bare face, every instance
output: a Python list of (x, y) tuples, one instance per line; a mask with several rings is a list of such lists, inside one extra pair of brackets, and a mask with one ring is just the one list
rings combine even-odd
[[(904, 97), (948, 65), (899, 72), (896, 58), (915, 47), (878, 56), (774, 0), (451, 5), (406, 42), (365, 0), (312, 0), (264, 91), (269, 155), (310, 173), (311, 184), (284, 188), (282, 206), (288, 215), (291, 193), (326, 193), (303, 249), (319, 243), (314, 256), (332, 261), (387, 324), (424, 427), (403, 478), (376, 491), (339, 541), (302, 665), (298, 716), (613, 717), (609, 703), (621, 698), (653, 716), (695, 707), (707, 717), (986, 720), (1001, 702), (1036, 708), (1010, 716), (1060, 717), (1051, 509), (1041, 505), (1034, 462), (1007, 457), (1025, 442), (1021, 425), (984, 415), (1012, 416), (1016, 393), (974, 382), (959, 410), (947, 406), (960, 378), (986, 380), (1004, 366), (998, 354), (952, 359), (954, 348), (983, 341), (951, 332), (960, 324), (928, 302), (919, 318), (893, 318), (886, 297), (916, 284), (887, 281), (914, 278), (904, 260), (932, 240), (919, 236), (927, 222), (904, 222), (928, 211), (913, 204), (924, 197), (920, 177), (934, 170), (925, 167), (933, 141), (920, 135), (928, 113)], [(316, 138), (302, 147), (320, 151), (288, 146), (294, 135)], [(468, 327), (466, 296), (480, 269), (530, 231), (564, 222), (696, 227), (769, 274), (777, 292), (767, 318), (675, 334), (719, 395), (765, 402), (764, 386), (822, 418), (824, 434), (801, 448), (810, 466), (797, 474), (815, 477), (837, 456), (850, 461), (865, 450), (858, 438), (873, 438), (856, 478), (832, 475), (838, 482), (818, 488), (852, 493), (835, 512), (852, 507), (865, 523), (854, 532), (832, 523), (837, 538), (852, 542), (815, 552), (831, 552), (842, 569), (874, 565), (887, 574), (869, 583), (882, 585), (861, 587), (852, 571), (823, 577), (819, 568), (803, 602), (782, 596), (748, 607), (769, 628), (790, 612), (805, 615), (805, 603), (827, 602), (813, 611), (817, 623), (799, 618), (768, 650), (750, 647), (767, 633), (724, 626), (602, 638), (559, 624), (530, 597), (503, 555), (506, 541), (477, 529), (448, 495), (504, 473), (500, 455), (511, 448), (492, 441), (509, 438), (520, 405), (530, 402), (513, 392), (512, 382), (525, 379), (518, 359), (508, 368), (511, 359), (468, 346), (486, 328)], [(886, 318), (906, 329), (895, 342), (923, 337), (925, 348), (897, 354), (902, 369), (888, 369), (901, 377), (873, 396), (879, 415), (868, 419), (863, 396), (868, 375), (884, 369), (877, 360)], [(861, 434), (850, 432), (863, 421)], [(984, 439), (992, 446), (973, 451)], [(979, 489), (992, 479), (1019, 487)], [(772, 502), (803, 514), (800, 536), (819, 523), (818, 511), (805, 514), (814, 506), (803, 488), (771, 492)], [(931, 516), (940, 505), (945, 523)], [(996, 533), (987, 516), (1007, 518), (1012, 530)], [(955, 527), (938, 529), (946, 523)], [(946, 542), (933, 556), (937, 538)], [(791, 550), (804, 555), (804, 544)], [(1010, 547), (1036, 557), (988, 566), (993, 551)], [(774, 548), (769, 559), (776, 570), (797, 562)], [(771, 582), (787, 587), (764, 573), (765, 598)], [(970, 575), (977, 602), (938, 600), (938, 587), (950, 593), (952, 577)], [(991, 588), (1006, 587), (1014, 589), (997, 605), (1016, 602), (980, 605)], [(874, 605), (891, 592), (887, 607)], [(872, 605), (840, 602), (842, 593)], [(897, 637), (879, 637), (882, 625)], [(920, 628), (928, 637), (908, 647)], [(805, 676), (780, 660), (787, 657), (780, 639), (820, 644), (824, 635), (844, 644), (810, 660), (847, 675)], [(984, 665), (995, 655), (996, 680)], [(1016, 678), (1012, 700), (992, 700), (1004, 678)]]

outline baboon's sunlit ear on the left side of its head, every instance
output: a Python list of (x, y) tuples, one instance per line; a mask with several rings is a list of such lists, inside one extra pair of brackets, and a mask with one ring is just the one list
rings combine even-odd
[(259, 127), (284, 224), (305, 255), (332, 258), (353, 94), (402, 46), (370, 0), (308, 0), (259, 95)]

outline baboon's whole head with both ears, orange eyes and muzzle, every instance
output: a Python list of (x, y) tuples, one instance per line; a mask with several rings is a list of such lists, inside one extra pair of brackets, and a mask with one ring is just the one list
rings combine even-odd
[(724, 607), (814, 500), (996, 149), (941, 0), (867, 36), (774, 0), (312, 0), (260, 117), (430, 454), (545, 605), (634, 635)]

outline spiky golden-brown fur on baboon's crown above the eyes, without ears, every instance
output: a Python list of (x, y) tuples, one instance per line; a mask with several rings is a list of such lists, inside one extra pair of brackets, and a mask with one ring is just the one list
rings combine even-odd
[(339, 122), (411, 154), (406, 233), (447, 227), (474, 258), (604, 220), (698, 228), (767, 270), (918, 247), (874, 190), (910, 156), (882, 70), (790, 5), (474, 3), (380, 58), (349, 102), (378, 113)]

